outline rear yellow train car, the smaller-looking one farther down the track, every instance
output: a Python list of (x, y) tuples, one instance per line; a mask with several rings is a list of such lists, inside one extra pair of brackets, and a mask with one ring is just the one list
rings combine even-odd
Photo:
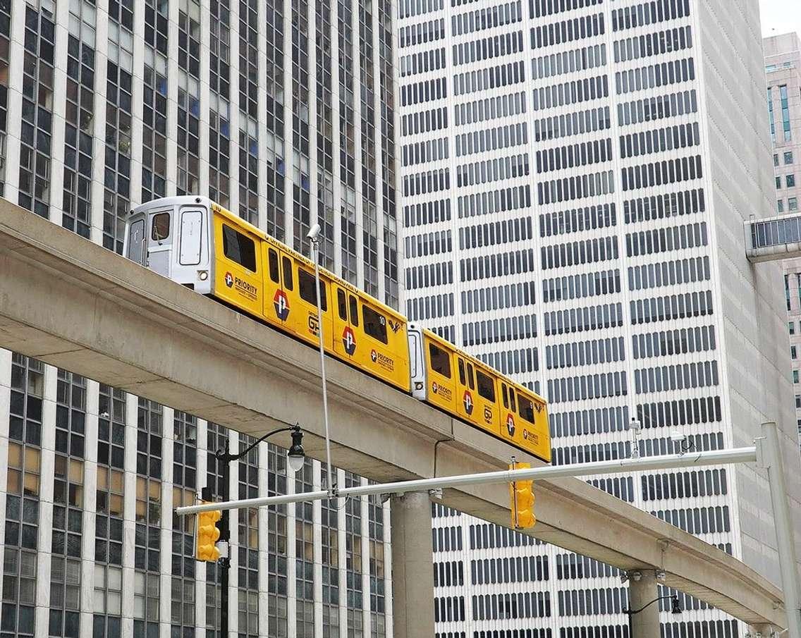
[(432, 331), (409, 323), (413, 395), (550, 462), (545, 399)]

